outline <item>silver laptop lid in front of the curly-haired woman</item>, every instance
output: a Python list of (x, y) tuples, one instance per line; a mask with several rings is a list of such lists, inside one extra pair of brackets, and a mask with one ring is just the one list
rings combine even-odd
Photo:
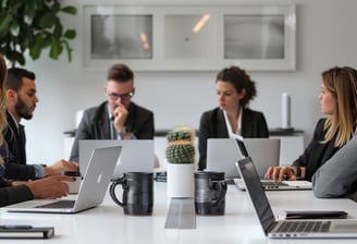
[[(242, 137), (239, 137), (243, 141)], [(244, 138), (246, 154), (256, 161), (260, 178), (267, 169), (279, 164), (280, 138)], [(207, 171), (223, 171), (226, 179), (239, 178), (235, 162), (246, 157), (237, 150), (234, 138), (209, 138), (207, 141)]]

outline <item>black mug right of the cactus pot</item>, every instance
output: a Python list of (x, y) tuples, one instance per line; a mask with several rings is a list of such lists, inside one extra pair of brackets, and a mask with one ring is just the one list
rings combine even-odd
[(195, 173), (195, 208), (197, 215), (224, 215), (226, 182), (224, 172)]

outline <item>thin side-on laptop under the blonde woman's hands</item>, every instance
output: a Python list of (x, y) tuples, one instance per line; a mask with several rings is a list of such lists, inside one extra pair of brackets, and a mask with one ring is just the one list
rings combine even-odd
[[(238, 150), (238, 154), (241, 155), (241, 159), (244, 159), (246, 157), (251, 157), (250, 154), (248, 154), (248, 150), (245, 146), (246, 142), (245, 139), (243, 141), (243, 138), (241, 136), (237, 136), (235, 138), (235, 147)], [(266, 151), (266, 154), (270, 154), (269, 151)], [(261, 156), (262, 157), (262, 156)], [(253, 158), (254, 159), (254, 158)], [(254, 159), (255, 160), (255, 159)], [(263, 158), (261, 158), (261, 160), (264, 160)], [(276, 163), (279, 164), (279, 163)], [(273, 164), (273, 166), (276, 166)], [(258, 171), (258, 166), (259, 163), (255, 163), (257, 172), (258, 172), (258, 176), (260, 180), (260, 183), (262, 185), (263, 190), (267, 191), (281, 191), (281, 190), (311, 190), (312, 188), (312, 184), (309, 181), (282, 181), (282, 182), (278, 182), (278, 181), (273, 181), (273, 180), (263, 180), (263, 175), (267, 172), (268, 167), (264, 167), (264, 171), (259, 172)], [(260, 169), (262, 170), (262, 169)], [(245, 183), (241, 178), (235, 178), (234, 180), (234, 184), (237, 186), (237, 188), (245, 191)]]

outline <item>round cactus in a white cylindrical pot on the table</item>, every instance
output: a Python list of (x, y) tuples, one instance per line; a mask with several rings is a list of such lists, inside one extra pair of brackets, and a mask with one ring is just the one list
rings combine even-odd
[(194, 130), (183, 126), (167, 135), (168, 197), (185, 198), (195, 195), (194, 137)]

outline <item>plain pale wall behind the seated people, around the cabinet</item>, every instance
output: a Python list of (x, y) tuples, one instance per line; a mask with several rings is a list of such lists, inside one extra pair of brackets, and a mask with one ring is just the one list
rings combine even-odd
[[(104, 99), (106, 71), (83, 68), (83, 4), (96, 1), (65, 0), (78, 7), (78, 14), (66, 17), (78, 37), (72, 42), (72, 63), (66, 57), (52, 61), (42, 54), (39, 61), (28, 61), (26, 68), (37, 74), (39, 102), (35, 117), (25, 121), (27, 154), (30, 162), (52, 163), (62, 157), (63, 132), (75, 125), (75, 112), (96, 106)], [(174, 0), (101, 1), (116, 4), (177, 4)], [(292, 125), (306, 132), (310, 139), (321, 117), (318, 95), (320, 73), (333, 65), (356, 68), (357, 1), (355, 0), (182, 0), (183, 5), (200, 4), (279, 4), (295, 3), (297, 9), (297, 69), (288, 72), (249, 72), (257, 82), (258, 97), (251, 108), (264, 112), (269, 127), (281, 125), (281, 94), (292, 96)], [(135, 71), (135, 66), (132, 66)], [(221, 68), (218, 68), (218, 70)], [(136, 72), (137, 93), (134, 101), (152, 111), (156, 129), (176, 124), (198, 127), (204, 110), (216, 107), (213, 72)]]

